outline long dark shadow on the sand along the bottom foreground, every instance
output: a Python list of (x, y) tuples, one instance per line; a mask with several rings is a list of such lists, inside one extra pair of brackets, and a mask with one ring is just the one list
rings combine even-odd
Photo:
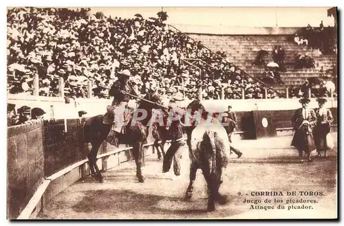
[[(72, 208), (76, 212), (95, 214), (100, 218), (222, 218), (241, 213), (235, 208), (217, 205), (217, 210), (206, 212), (206, 199), (193, 197), (166, 197), (154, 194), (140, 194), (132, 190), (89, 190), (83, 199)], [(229, 196), (228, 203), (236, 196)]]

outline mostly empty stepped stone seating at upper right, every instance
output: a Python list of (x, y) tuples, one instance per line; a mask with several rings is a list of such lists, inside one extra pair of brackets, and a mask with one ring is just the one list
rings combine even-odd
[[(284, 85), (272, 85), (274, 89), (285, 95), (286, 88), (303, 84), (307, 78), (326, 75), (327, 69), (336, 67), (337, 56), (323, 55), (319, 50), (313, 50), (305, 45), (294, 43), (292, 35), (208, 35), (188, 34), (191, 38), (201, 41), (203, 45), (213, 51), (226, 52), (228, 61), (240, 69), (243, 69), (251, 76), (260, 77), (264, 72), (264, 66), (255, 66), (259, 50), (266, 50), (269, 56), (264, 58), (266, 63), (273, 62), (272, 49), (275, 45), (281, 45), (286, 52), (285, 66), (287, 71), (281, 74)], [(315, 61), (314, 69), (294, 69), (294, 56), (296, 54), (307, 54)]]

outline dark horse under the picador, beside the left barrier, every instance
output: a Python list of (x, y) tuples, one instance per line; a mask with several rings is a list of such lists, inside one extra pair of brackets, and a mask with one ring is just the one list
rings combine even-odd
[[(160, 98), (158, 95), (147, 93), (144, 99), (151, 102), (159, 103)], [(148, 136), (148, 123), (151, 120), (151, 110), (155, 108), (155, 104), (141, 100), (138, 109), (131, 112), (131, 117), (127, 125), (125, 126), (125, 134), (118, 135), (118, 142), (120, 144), (129, 144), (132, 146), (132, 154), (136, 163), (136, 177), (138, 181), (143, 183), (144, 177), (142, 176), (142, 158), (144, 153), (142, 152), (142, 146), (147, 141)], [(139, 120), (142, 117), (142, 110), (147, 112), (147, 117)], [(136, 115), (137, 120), (133, 119), (133, 115)], [(84, 137), (86, 143), (91, 143), (92, 148), (89, 151), (89, 168), (99, 179), (100, 182), (104, 181), (103, 175), (100, 173), (96, 164), (96, 157), (98, 149), (103, 141), (107, 138), (111, 125), (103, 124), (104, 115), (97, 115), (91, 117), (84, 126)]]

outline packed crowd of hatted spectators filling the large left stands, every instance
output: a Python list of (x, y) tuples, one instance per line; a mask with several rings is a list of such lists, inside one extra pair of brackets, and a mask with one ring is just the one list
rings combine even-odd
[[(135, 89), (171, 96), (183, 93), (204, 99), (264, 98), (264, 87), (228, 63), (221, 52), (175, 32), (160, 19), (132, 19), (92, 15), (89, 9), (12, 8), (8, 10), (8, 91), (32, 93), (39, 75), (40, 95), (58, 95), (58, 80), (65, 81), (65, 95), (86, 97), (92, 82), (96, 98), (109, 98), (116, 73), (129, 69)], [(198, 58), (201, 71), (182, 63)], [(268, 98), (277, 93), (268, 89)]]

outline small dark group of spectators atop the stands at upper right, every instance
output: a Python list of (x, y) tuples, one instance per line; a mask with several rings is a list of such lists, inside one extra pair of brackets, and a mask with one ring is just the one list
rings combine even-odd
[(324, 27), (321, 21), (319, 27), (308, 24), (294, 36), (294, 42), (298, 45), (308, 45), (312, 49), (319, 49), (323, 54), (336, 52), (336, 28)]

